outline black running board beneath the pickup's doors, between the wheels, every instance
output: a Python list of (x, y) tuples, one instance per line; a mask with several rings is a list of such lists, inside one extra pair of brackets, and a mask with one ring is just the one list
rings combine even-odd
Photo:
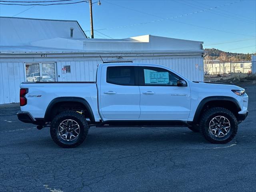
[(190, 123), (177, 120), (109, 120), (100, 124), (91, 124), (96, 127), (189, 127)]

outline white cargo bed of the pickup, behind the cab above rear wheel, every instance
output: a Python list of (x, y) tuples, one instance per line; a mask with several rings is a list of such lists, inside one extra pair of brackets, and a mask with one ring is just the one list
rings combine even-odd
[(21, 111), (29, 111), (35, 120), (50, 120), (54, 105), (65, 102), (82, 102), (90, 108), (93, 121), (100, 120), (96, 82), (24, 82), (20, 88), (27, 88), (28, 84), (29, 102), (21, 106)]

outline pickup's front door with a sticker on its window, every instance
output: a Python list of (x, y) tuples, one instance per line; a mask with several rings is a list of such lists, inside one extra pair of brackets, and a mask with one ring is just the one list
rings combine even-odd
[(140, 119), (186, 120), (190, 113), (190, 87), (177, 86), (183, 80), (158, 67), (139, 67)]

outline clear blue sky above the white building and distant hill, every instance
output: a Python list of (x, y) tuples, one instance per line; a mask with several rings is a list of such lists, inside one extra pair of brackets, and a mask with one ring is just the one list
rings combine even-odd
[[(101, 3), (101, 6), (93, 4), (94, 29), (99, 30), (94, 32), (95, 38), (151, 34), (203, 41), (204, 48), (256, 52), (256, 0), (101, 0)], [(54, 6), (0, 5), (0, 16), (78, 20), (90, 36), (86, 2)]]

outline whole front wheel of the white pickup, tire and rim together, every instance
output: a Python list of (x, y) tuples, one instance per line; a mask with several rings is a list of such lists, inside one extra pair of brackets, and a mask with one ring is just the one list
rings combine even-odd
[(225, 144), (236, 136), (238, 124), (234, 114), (221, 107), (206, 110), (199, 123), (199, 129), (206, 140), (215, 144)]

